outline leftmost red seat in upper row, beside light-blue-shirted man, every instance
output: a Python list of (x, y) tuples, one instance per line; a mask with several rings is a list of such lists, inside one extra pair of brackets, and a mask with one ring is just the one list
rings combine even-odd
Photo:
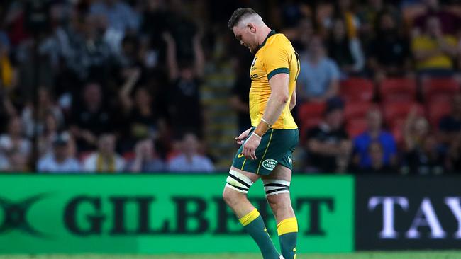
[(340, 96), (348, 101), (370, 102), (373, 98), (373, 83), (368, 79), (352, 77), (341, 81)]

